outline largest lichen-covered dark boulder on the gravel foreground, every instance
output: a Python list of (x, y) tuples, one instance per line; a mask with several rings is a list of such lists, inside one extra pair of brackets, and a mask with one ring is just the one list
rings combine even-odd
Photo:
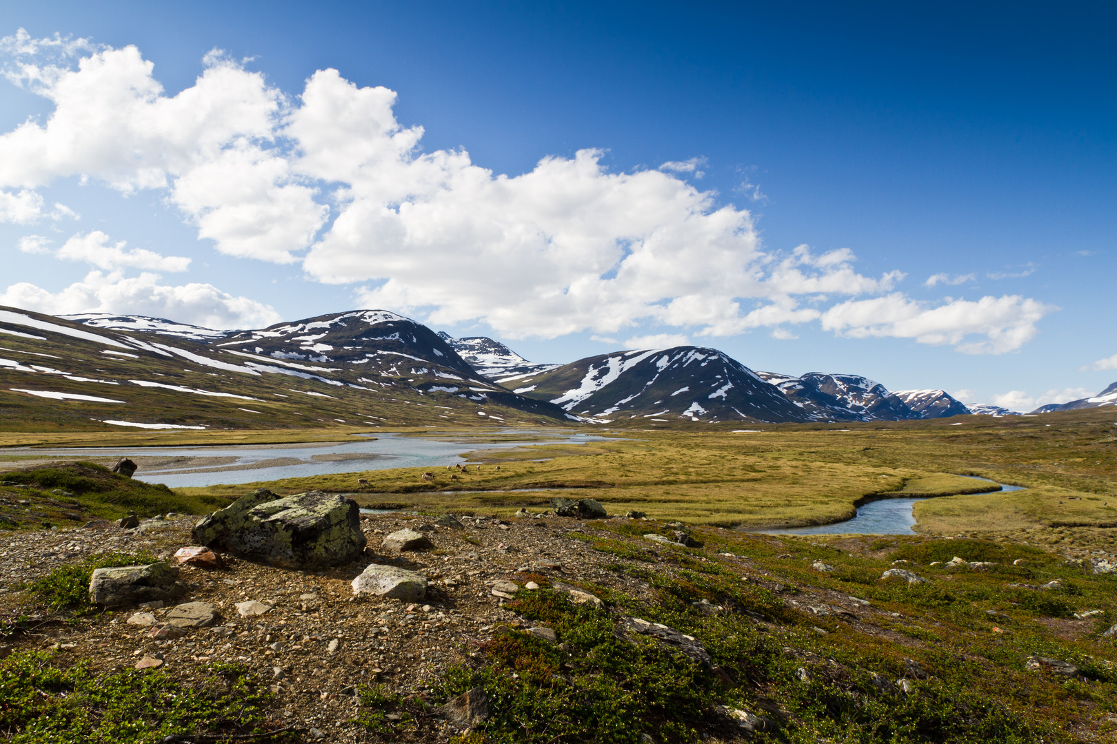
[(347, 563), (364, 550), (361, 510), (321, 491), (278, 496), (258, 489), (194, 525), (198, 544), (279, 568)]

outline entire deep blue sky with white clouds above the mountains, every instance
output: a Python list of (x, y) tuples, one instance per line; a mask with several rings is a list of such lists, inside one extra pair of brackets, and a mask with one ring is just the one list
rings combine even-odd
[[(1101, 3), (8, 4), (0, 292), (213, 325), (376, 302), (541, 361), (685, 338), (971, 402), (1081, 397), (1117, 378), (1115, 20)], [(35, 44), (56, 32), (71, 44)], [(133, 66), (96, 80), (27, 73), (130, 45)], [(142, 60), (162, 86), (145, 106), (239, 90), (240, 118), (188, 132), (201, 104), (150, 124), (83, 97), (107, 102)], [(360, 95), (375, 86), (398, 97)], [(388, 129), (315, 118), (326, 99)], [(51, 129), (67, 110), (96, 136)], [(302, 129), (281, 129), (292, 112)], [(28, 117), (42, 136), (21, 164)], [(256, 202), (206, 149), (221, 126), (225, 155), (283, 171)], [(395, 160), (350, 167), (353, 138), (384, 132)]]

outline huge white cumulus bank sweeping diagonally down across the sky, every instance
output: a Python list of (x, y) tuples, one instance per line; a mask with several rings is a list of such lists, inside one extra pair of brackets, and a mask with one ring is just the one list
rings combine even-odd
[[(1018, 297), (924, 306), (894, 292), (903, 272), (863, 276), (848, 249), (773, 252), (747, 210), (684, 180), (701, 174), (700, 157), (614, 173), (583, 149), (499, 175), (464, 149), (422, 151), (422, 127), (395, 118), (394, 91), (333, 69), (292, 97), (214, 51), (171, 96), (132, 46), (21, 31), (0, 47), (15, 60), (8, 78), (54, 104), (45, 122), (0, 134), (0, 189), (37, 196), (77, 175), (123, 194), (160, 190), (220, 252), (298, 262), (308, 279), (356, 284), (365, 306), (428, 322), (483, 321), (508, 338), (645, 323), (708, 337), (823, 319), (851, 337), (1000, 352), (1047, 311)], [(123, 245), (95, 254), (113, 257), (96, 264), (106, 271), (172, 270), (173, 259)], [(827, 310), (834, 298), (847, 301)], [(971, 306), (977, 320), (946, 318)]]

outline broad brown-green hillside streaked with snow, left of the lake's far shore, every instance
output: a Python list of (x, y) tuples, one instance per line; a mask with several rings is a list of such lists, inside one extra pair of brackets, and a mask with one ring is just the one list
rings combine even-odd
[[(92, 320), (0, 309), (6, 429), (567, 421), (557, 406), (481, 379), (432, 331), (393, 313), (335, 313), (208, 340), (175, 338), (156, 322)], [(106, 322), (114, 328), (97, 326)]]

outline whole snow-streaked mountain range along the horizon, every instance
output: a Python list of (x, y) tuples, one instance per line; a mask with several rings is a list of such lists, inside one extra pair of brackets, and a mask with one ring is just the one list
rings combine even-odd
[[(0, 396), (18, 393), (17, 398), (70, 402), (88, 397), (87, 404), (104, 407), (98, 403), (105, 399), (104, 385), (135, 385), (145, 389), (145, 405), (153, 405), (145, 408), (149, 418), (162, 422), (208, 416), (208, 423), (199, 426), (219, 422), (241, 425), (246, 413), (267, 415), (275, 425), (305, 422), (304, 412), (284, 408), (283, 398), (294, 397), (292, 392), (315, 397), (316, 410), (336, 414), (328, 419), (349, 422), (356, 416), (371, 424), (429, 419), (437, 425), (461, 422), (467, 415), (477, 417), (469, 421), (495, 423), (542, 416), (542, 421), (637, 419), (659, 424), (916, 421), (1015, 414), (996, 406), (967, 407), (938, 389), (889, 392), (860, 375), (809, 373), (795, 377), (752, 370), (723, 351), (694, 346), (615, 351), (566, 365), (534, 364), (494, 339), (436, 334), (384, 310), (337, 312), (258, 330), (228, 331), (145, 316), (83, 313), (61, 318), (0, 309), (0, 340), (6, 342), (0, 351), (0, 383), (20, 383), (3, 385)], [(16, 348), (30, 338), (47, 344)], [(105, 346), (112, 348), (101, 348)], [(23, 358), (3, 358), (38, 355), (65, 360), (75, 352), (79, 358), (73, 359), (78, 363), (71, 367), (74, 374), (61, 369), (61, 364), (54, 369)], [(87, 369), (94, 359), (101, 377)], [(172, 379), (155, 377), (181, 379), (171, 384)], [(47, 386), (52, 389), (31, 389), (29, 380), (40, 387), (50, 380)], [(287, 387), (295, 380), (308, 389)], [(246, 388), (242, 384), (247, 381), (251, 384)], [(245, 395), (245, 390), (252, 394)], [(230, 402), (221, 400), (222, 406), (214, 400), (230, 396), (259, 402), (266, 394), (276, 405), (269, 412), (244, 405), (230, 408)], [(194, 403), (203, 399), (206, 405), (183, 407), (183, 395), (192, 396)], [(290, 402), (286, 405), (292, 407)], [(1037, 413), (1101, 405), (1117, 405), (1117, 383), (1098, 396), (1044, 406)], [(435, 412), (432, 406), (442, 409)], [(420, 410), (422, 407), (427, 410)], [(209, 413), (202, 415), (202, 409)], [(366, 413), (356, 415), (354, 410)], [(97, 416), (85, 421), (88, 418), (106, 421)]]

